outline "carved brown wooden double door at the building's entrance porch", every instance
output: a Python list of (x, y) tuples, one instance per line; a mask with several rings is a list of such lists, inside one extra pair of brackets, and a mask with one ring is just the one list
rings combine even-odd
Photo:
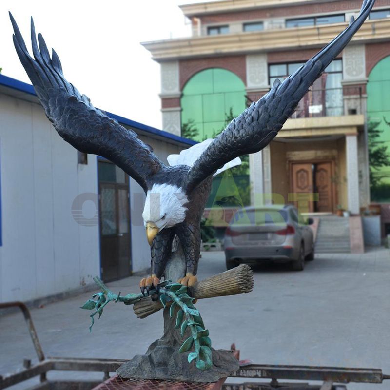
[[(297, 162), (290, 164), (290, 191), (294, 194), (314, 194), (317, 200), (309, 201), (309, 212), (334, 212), (333, 161)], [(318, 195), (316, 195), (318, 194)], [(295, 202), (297, 203), (297, 202)], [(297, 204), (296, 204), (297, 206)]]

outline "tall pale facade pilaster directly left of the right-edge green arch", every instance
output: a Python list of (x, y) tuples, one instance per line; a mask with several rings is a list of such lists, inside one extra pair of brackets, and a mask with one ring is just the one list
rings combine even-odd
[[(348, 15), (349, 17), (350, 15)], [(346, 15), (347, 17), (347, 15)], [(364, 44), (350, 44), (343, 51), (343, 98), (345, 115), (366, 115), (367, 112), (366, 47)], [(365, 121), (367, 122), (367, 120)], [(367, 125), (359, 135), (358, 169), (360, 171), (360, 204), (370, 201)]]

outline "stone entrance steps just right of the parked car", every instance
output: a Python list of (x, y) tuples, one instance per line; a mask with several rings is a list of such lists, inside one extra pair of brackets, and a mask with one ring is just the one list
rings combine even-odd
[(316, 253), (351, 253), (349, 218), (321, 216), (315, 240)]

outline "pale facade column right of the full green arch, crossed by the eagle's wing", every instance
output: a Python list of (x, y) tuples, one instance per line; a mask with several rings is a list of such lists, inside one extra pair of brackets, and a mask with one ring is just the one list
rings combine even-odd
[[(246, 56), (246, 76), (246, 93), (250, 100), (258, 100), (269, 91), (267, 54), (257, 53)], [(265, 153), (263, 153), (263, 151), (260, 151), (250, 155), (249, 176), (251, 182), (252, 205), (264, 204), (265, 202), (264, 193), (267, 191), (265, 189), (264, 168), (266, 167), (267, 170), (269, 169), (269, 158), (269, 148), (268, 152), (265, 151)], [(268, 176), (267, 172), (267, 180), (269, 178), (271, 182), (271, 175)], [(266, 184), (268, 186), (268, 181)], [(271, 190), (269, 192), (271, 192)]]

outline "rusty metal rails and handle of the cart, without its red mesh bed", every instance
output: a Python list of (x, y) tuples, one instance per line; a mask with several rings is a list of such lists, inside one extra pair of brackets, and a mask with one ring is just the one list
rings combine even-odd
[[(27, 306), (22, 302), (0, 303), (0, 309), (19, 307), (23, 312), (24, 319), (35, 348), (39, 363), (31, 366), (30, 360), (24, 360), (24, 370), (7, 376), (0, 375), (0, 389), (13, 386), (17, 383), (26, 381), (36, 376), (40, 376), (41, 384), (34, 389), (75, 389), (84, 390), (88, 386), (96, 386), (98, 381), (56, 381), (51, 382), (46, 379), (46, 373), (51, 370), (57, 371), (85, 371), (85, 372), (103, 372), (103, 381), (109, 378), (110, 372), (115, 372), (119, 366), (127, 360), (123, 359), (88, 359), (88, 358), (64, 358), (49, 357), (45, 358), (42, 347), (39, 342), (37, 331), (35, 330), (31, 314)], [(237, 352), (237, 351), (236, 351)], [(340, 367), (315, 367), (315, 366), (281, 366), (281, 365), (258, 365), (251, 364), (241, 367), (231, 375), (237, 378), (256, 378), (271, 379), (270, 383), (255, 382), (245, 384), (224, 384), (223, 389), (235, 390), (242, 389), (240, 386), (247, 386), (248, 389), (275, 389), (283, 385), (283, 389), (297, 390), (346, 390), (343, 385), (335, 383), (382, 383), (384, 380), (390, 380), (390, 375), (384, 375), (380, 369), (364, 368), (340, 368)], [(321, 381), (320, 385), (300, 384), (282, 384), (278, 379)], [(51, 386), (53, 385), (53, 386)], [(286, 387), (286, 385), (288, 387)], [(300, 387), (299, 387), (300, 386)], [(89, 387), (90, 389), (91, 387)]]

